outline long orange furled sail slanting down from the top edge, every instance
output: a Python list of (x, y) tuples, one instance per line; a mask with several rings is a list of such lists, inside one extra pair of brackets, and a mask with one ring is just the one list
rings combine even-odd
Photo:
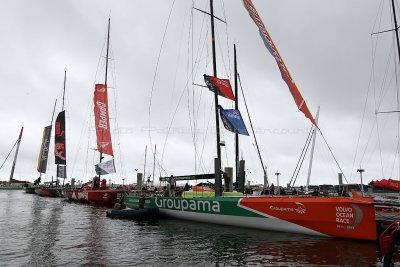
[(257, 25), (259, 29), (260, 36), (264, 41), (265, 46), (267, 47), (268, 51), (271, 55), (275, 58), (276, 63), (278, 64), (279, 70), (281, 71), (282, 79), (286, 82), (289, 87), (290, 93), (292, 94), (294, 101), (296, 102), (297, 108), (304, 113), (304, 115), (316, 126), (314, 117), (311, 115), (310, 110), (307, 107), (306, 102), (304, 101), (299, 89), (297, 88), (296, 84), (292, 80), (290, 76), (289, 70), (286, 68), (283, 59), (281, 58), (277, 47), (275, 46), (274, 42), (272, 41), (271, 36), (269, 35), (267, 29), (265, 28), (264, 23), (262, 22), (260, 16), (256, 8), (254, 7), (251, 0), (243, 0), (243, 4), (247, 11), (249, 12), (250, 17), (253, 19), (254, 23)]

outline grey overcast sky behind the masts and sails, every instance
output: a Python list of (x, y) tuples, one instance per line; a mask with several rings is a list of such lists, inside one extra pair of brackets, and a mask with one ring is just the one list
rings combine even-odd
[[(150, 175), (154, 150), (150, 146), (154, 144), (162, 175), (213, 170), (213, 95), (206, 88), (192, 86), (192, 82), (203, 83), (203, 74), (212, 74), (209, 19), (192, 11), (192, 1), (176, 0), (166, 28), (172, 4), (170, 0), (3, 1), (0, 157), (5, 158), (24, 126), (16, 178), (33, 181), (38, 177), (42, 131), (50, 123), (54, 100), (61, 101), (64, 69), (68, 176), (77, 180), (93, 176), (98, 153), (94, 151), (92, 94), (94, 83), (104, 81), (109, 15), (109, 102), (117, 165), (117, 174), (110, 178), (133, 182), (135, 169), (143, 171), (146, 145)], [(358, 182), (352, 167), (367, 96), (354, 168), (361, 164), (366, 169), (367, 182), (399, 177), (397, 115), (382, 114), (377, 119), (374, 115), (376, 109), (396, 109), (397, 55), (392, 33), (371, 37), (373, 31), (393, 27), (389, 1), (255, 0), (254, 4), (311, 112), (321, 106), (320, 128), (348, 181)], [(269, 178), (276, 183), (274, 173), (279, 170), (281, 184), (286, 184), (310, 123), (297, 110), (241, 1), (216, 0), (214, 5), (215, 15), (227, 21), (226, 25), (216, 21), (218, 76), (232, 77), (236, 43), (243, 89)], [(194, 6), (209, 9), (204, 0), (194, 1)], [(223, 107), (233, 107), (231, 101), (220, 99)], [(60, 109), (58, 105), (57, 112)], [(234, 166), (233, 134), (223, 129), (221, 136), (226, 142), (223, 166)], [(246, 160), (248, 179), (262, 183), (251, 137), (241, 138), (241, 156)], [(8, 179), (11, 162), (10, 158), (0, 170), (2, 180)], [(51, 153), (45, 180), (55, 173), (53, 162)], [(307, 168), (308, 156), (297, 184), (305, 184)], [(157, 164), (156, 176), (159, 169)], [(338, 172), (318, 135), (312, 183), (337, 183)]]

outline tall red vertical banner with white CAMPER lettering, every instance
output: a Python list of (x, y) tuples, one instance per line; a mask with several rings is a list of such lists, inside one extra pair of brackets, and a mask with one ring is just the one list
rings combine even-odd
[(97, 149), (100, 153), (113, 156), (106, 84), (95, 85), (93, 101)]

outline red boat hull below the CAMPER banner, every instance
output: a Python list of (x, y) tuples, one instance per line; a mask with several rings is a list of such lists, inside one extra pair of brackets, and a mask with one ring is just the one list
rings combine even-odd
[(118, 203), (125, 190), (122, 189), (86, 189), (75, 188), (64, 191), (65, 197), (71, 201), (92, 205), (113, 207)]

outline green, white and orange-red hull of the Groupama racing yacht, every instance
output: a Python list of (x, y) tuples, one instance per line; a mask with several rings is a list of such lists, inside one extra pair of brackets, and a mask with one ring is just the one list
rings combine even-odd
[[(127, 207), (139, 207), (139, 197), (124, 196)], [(217, 197), (150, 198), (144, 208), (198, 222), (261, 230), (351, 239), (376, 240), (372, 198), (345, 197)]]

